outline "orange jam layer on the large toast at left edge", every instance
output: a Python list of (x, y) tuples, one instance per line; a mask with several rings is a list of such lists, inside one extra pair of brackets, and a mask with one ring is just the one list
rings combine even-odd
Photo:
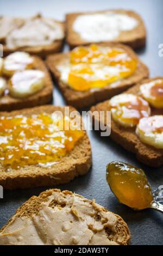
[[(65, 126), (66, 125), (66, 126)], [(68, 125), (68, 126), (67, 126)], [(0, 118), (0, 163), (5, 171), (54, 164), (84, 136), (66, 116), (40, 113)], [(48, 166), (48, 165), (47, 165)]]

